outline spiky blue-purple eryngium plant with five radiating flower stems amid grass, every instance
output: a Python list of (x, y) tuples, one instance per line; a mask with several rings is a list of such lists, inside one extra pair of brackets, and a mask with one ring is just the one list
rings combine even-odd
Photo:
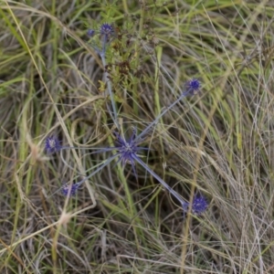
[[(100, 29), (90, 29), (88, 30), (88, 36), (91, 38), (91, 47), (94, 48), (94, 50), (99, 54), (102, 64), (104, 68), (107, 68), (107, 61), (106, 61), (106, 52), (107, 48), (111, 45), (111, 41), (113, 41), (116, 38), (116, 32), (114, 30), (114, 27), (111, 24), (104, 23), (100, 26)], [(94, 40), (93, 40), (94, 38)], [(100, 43), (98, 42), (100, 41)], [(108, 71), (107, 69), (104, 71), (104, 79), (107, 79)], [(192, 205), (190, 203), (184, 201), (181, 195), (179, 195), (174, 189), (166, 184), (163, 179), (156, 174), (147, 163), (142, 161), (139, 153), (142, 153), (142, 151), (148, 151), (149, 148), (143, 147), (141, 144), (144, 142), (144, 137), (150, 134), (150, 132), (153, 132), (153, 127), (160, 121), (160, 119), (163, 117), (163, 115), (174, 108), (174, 105), (177, 104), (179, 101), (184, 100), (184, 98), (189, 96), (195, 96), (195, 94), (200, 90), (200, 82), (198, 79), (190, 79), (185, 84), (185, 90), (181, 92), (181, 94), (178, 96), (177, 100), (174, 100), (174, 102), (165, 108), (164, 111), (162, 111), (154, 121), (148, 124), (148, 126), (142, 130), (139, 134), (137, 133), (136, 128), (132, 128), (132, 135), (130, 138), (125, 138), (124, 135), (121, 133), (120, 129), (120, 123), (118, 121), (119, 115), (117, 111), (117, 106), (114, 100), (113, 92), (111, 89), (111, 80), (107, 80), (107, 96), (109, 96), (111, 100), (111, 105), (107, 105), (107, 109), (109, 111), (109, 114), (111, 116), (111, 120), (116, 126), (116, 132), (113, 133), (114, 142), (113, 145), (110, 147), (105, 148), (98, 148), (96, 150), (93, 150), (92, 153), (110, 153), (110, 157), (104, 161), (103, 163), (100, 163), (97, 165), (97, 168), (91, 172), (89, 175), (84, 177), (82, 180), (80, 180), (78, 183), (75, 184), (63, 184), (61, 188), (58, 189), (63, 195), (66, 196), (73, 196), (77, 195), (78, 189), (85, 181), (90, 179), (93, 175), (98, 174), (104, 167), (109, 165), (111, 162), (121, 163), (124, 167), (126, 164), (132, 165), (132, 171), (137, 179), (137, 173), (135, 164), (140, 164), (142, 168), (148, 172), (149, 174), (152, 174), (153, 177), (163, 185), (163, 187), (170, 193), (170, 195), (173, 195), (174, 198), (180, 203), (182, 206), (183, 212), (186, 213), (188, 211), (192, 211), (195, 215), (200, 215), (205, 212), (208, 204), (205, 199), (204, 195), (201, 195), (200, 193), (197, 193), (194, 198)], [(47, 153), (61, 153), (63, 150), (68, 150), (72, 148), (78, 148), (83, 149), (84, 147), (69, 147), (69, 146), (62, 146), (61, 143), (58, 141), (58, 138), (56, 136), (49, 136), (46, 139), (45, 142), (45, 150)], [(89, 149), (89, 148), (84, 148)], [(63, 159), (61, 154), (62, 161), (66, 163), (66, 161)], [(57, 191), (57, 192), (58, 192)], [(56, 194), (55, 192), (54, 194)], [(53, 194), (53, 195), (54, 195)]]

